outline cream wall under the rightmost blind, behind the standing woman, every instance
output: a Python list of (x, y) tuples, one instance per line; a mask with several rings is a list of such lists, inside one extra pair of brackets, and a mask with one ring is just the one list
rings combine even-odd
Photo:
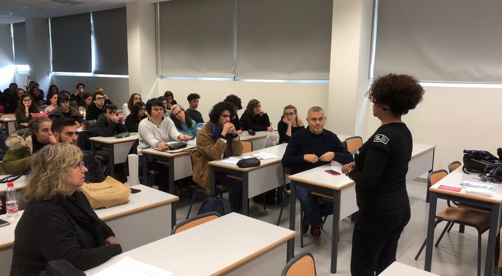
[[(500, 103), (502, 89), (424, 87), (424, 100), (403, 116), (413, 141), (436, 145), (434, 169), (462, 162), (464, 149), (487, 150), (496, 156), (502, 147)], [(368, 133), (380, 121), (368, 117)], [(364, 137), (367, 138), (367, 137)]]

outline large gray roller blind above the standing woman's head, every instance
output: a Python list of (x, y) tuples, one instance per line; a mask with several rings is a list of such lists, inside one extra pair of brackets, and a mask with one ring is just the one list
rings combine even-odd
[(502, 1), (380, 0), (373, 76), (502, 83)]

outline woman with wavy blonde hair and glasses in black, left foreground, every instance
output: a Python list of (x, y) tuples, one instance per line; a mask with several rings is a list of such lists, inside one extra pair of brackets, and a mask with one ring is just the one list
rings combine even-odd
[(122, 253), (111, 228), (78, 190), (87, 172), (82, 151), (48, 145), (32, 159), (28, 203), (14, 232), (11, 275), (38, 275), (50, 260), (65, 259), (87, 270)]

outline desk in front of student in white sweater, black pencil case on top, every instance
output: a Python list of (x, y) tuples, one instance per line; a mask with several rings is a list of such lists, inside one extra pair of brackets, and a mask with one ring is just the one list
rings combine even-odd
[[(142, 149), (141, 153), (144, 155), (144, 159), (146, 160), (147, 156), (152, 157), (154, 160), (164, 161), (168, 163), (169, 170), (169, 192), (174, 193), (174, 181), (178, 179), (182, 179), (192, 175), (192, 163), (190, 161), (190, 151), (195, 150), (192, 148), (187, 151), (178, 152), (178, 153), (168, 153), (164, 151), (158, 151), (156, 149)], [(143, 184), (148, 185), (148, 164), (143, 161)], [(165, 180), (165, 179), (161, 179)], [(176, 204), (173, 204), (172, 207), (172, 226), (176, 224)]]

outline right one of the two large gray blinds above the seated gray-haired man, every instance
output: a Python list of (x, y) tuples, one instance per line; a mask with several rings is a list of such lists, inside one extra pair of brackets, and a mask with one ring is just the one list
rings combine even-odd
[(332, 0), (237, 0), (238, 79), (327, 80)]

